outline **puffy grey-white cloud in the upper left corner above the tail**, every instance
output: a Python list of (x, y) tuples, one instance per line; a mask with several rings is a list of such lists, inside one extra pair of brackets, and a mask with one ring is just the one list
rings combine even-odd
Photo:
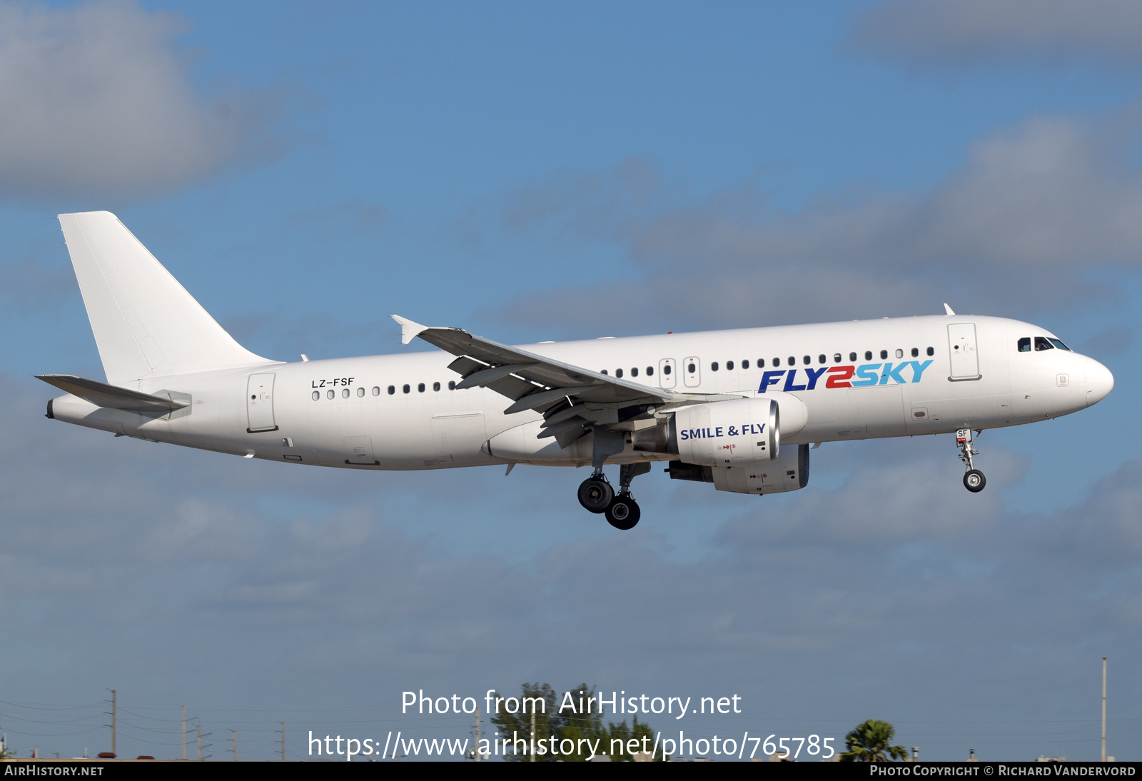
[(266, 151), (267, 94), (196, 95), (183, 23), (135, 2), (0, 2), (0, 195), (137, 196)]

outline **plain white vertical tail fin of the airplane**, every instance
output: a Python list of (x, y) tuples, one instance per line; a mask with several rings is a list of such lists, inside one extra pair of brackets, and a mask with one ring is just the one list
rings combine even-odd
[(272, 363), (239, 345), (110, 211), (59, 215), (107, 381)]

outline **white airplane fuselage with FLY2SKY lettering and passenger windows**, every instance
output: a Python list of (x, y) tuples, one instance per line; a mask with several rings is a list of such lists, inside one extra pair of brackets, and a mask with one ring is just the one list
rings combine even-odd
[[(1062, 348), (1018, 347), (1020, 339), (1034, 345), (1035, 337), (1052, 336), (1014, 320), (948, 315), (544, 343), (526, 349), (611, 376), (621, 370), (626, 380), (677, 392), (796, 397), (804, 404), (803, 419), (782, 413), (789, 425), (781, 428), (782, 443), (793, 444), (1014, 426), (1068, 414), (1104, 397), (1113, 380), (1096, 361)], [(160, 418), (64, 395), (53, 400), (50, 414), (190, 448), (356, 469), (589, 461), (589, 450), (563, 451), (549, 438), (532, 448), (530, 436), (510, 451), (489, 446), (518, 426), (532, 424), (538, 430), (541, 418), (533, 411), (505, 416), (510, 400), (488, 388), (449, 389), (460, 379), (448, 369), (452, 360), (427, 352), (147, 378), (120, 385), (188, 394), (188, 412)], [(610, 462), (665, 458), (628, 448)]]

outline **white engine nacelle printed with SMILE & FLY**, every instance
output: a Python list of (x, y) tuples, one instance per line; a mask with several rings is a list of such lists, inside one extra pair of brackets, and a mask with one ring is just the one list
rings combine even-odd
[(681, 460), (702, 466), (771, 461), (780, 454), (781, 425), (773, 398), (695, 404), (674, 413), (671, 445)]

